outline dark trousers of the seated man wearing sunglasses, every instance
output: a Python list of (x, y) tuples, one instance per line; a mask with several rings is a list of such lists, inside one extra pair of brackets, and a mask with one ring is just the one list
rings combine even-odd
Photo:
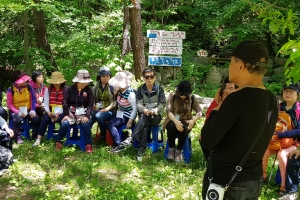
[(149, 126), (159, 125), (161, 120), (160, 115), (146, 116), (141, 114), (139, 116), (139, 121), (135, 126), (132, 133), (132, 138), (138, 140), (139, 147), (147, 147), (147, 136), (149, 132)]

